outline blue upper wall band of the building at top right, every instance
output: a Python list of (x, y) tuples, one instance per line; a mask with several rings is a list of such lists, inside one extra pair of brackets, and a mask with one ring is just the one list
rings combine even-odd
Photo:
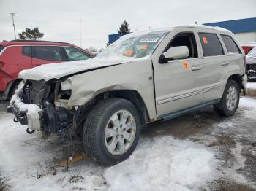
[(227, 28), (233, 33), (246, 33), (256, 31), (256, 17), (238, 19), (238, 20), (227, 20), (216, 23), (206, 23), (206, 26), (219, 26)]

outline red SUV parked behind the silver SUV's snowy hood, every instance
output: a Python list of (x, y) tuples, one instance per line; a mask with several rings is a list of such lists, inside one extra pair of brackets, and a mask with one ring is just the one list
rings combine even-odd
[(0, 100), (11, 97), (18, 86), (18, 73), (45, 63), (79, 61), (93, 58), (73, 44), (47, 41), (0, 42)]

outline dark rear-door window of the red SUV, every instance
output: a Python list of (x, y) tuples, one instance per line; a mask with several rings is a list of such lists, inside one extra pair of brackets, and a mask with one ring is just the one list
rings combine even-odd
[(56, 46), (34, 46), (33, 58), (48, 61), (64, 61), (61, 48)]

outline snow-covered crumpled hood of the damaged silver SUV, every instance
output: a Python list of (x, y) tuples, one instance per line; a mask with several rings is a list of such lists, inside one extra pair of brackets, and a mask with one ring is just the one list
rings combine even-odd
[(87, 71), (91, 69), (97, 69), (106, 66), (113, 66), (119, 63), (127, 63), (132, 59), (120, 59), (120, 58), (93, 58), (85, 61), (70, 61), (63, 63), (50, 63), (37, 66), (33, 69), (20, 71), (18, 75), (22, 79), (32, 80), (45, 80), (60, 79), (69, 74), (75, 74), (80, 71)]

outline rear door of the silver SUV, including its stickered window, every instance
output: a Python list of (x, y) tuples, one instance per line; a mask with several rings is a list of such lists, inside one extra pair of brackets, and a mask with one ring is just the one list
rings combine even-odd
[(203, 29), (198, 31), (203, 52), (203, 102), (206, 103), (222, 96), (222, 65), (225, 65), (225, 53), (218, 34)]

